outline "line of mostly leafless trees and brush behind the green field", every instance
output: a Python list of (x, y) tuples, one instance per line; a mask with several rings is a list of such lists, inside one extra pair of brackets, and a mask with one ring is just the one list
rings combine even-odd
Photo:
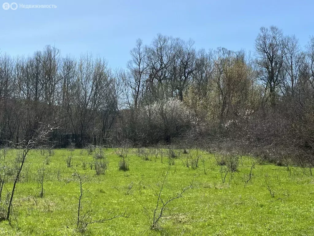
[(112, 69), (51, 46), (27, 58), (2, 52), (2, 144), (55, 122), (56, 147), (176, 143), (313, 160), (314, 37), (301, 46), (261, 27), (251, 54), (158, 34), (138, 39), (130, 57)]

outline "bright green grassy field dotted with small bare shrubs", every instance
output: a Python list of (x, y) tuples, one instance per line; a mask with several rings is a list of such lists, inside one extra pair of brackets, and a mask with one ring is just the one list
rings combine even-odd
[[(314, 180), (309, 168), (256, 163), (249, 180), (249, 157), (238, 160), (237, 171), (228, 171), (228, 166), (219, 166), (214, 155), (205, 152), (198, 152), (196, 168), (196, 150), (188, 154), (176, 150), (170, 166), (167, 150), (161, 158), (160, 154), (138, 156), (137, 149), (129, 149), (129, 171), (120, 171), (117, 151), (102, 150), (107, 170), (96, 175), (93, 163), (99, 149), (89, 155), (87, 149), (55, 149), (50, 157), (47, 151), (31, 150), (17, 183), (11, 225), (0, 222), (1, 235), (314, 235)], [(7, 166), (16, 165), (16, 153), (8, 150)], [(38, 180), (43, 169), (41, 197)], [(182, 198), (167, 205), (171, 216), (161, 218), (158, 228), (151, 230), (155, 192), (159, 193), (168, 169), (164, 200), (189, 186), (195, 176), (194, 182)], [(84, 233), (79, 232), (80, 185), (75, 173), (85, 176), (84, 221), (127, 217), (88, 224)], [(3, 188), (4, 207), (13, 177)]]

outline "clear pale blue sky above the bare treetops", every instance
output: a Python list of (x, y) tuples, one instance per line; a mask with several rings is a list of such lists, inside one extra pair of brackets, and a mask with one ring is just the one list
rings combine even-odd
[(314, 1), (66, 1), (14, 0), (54, 4), (52, 9), (4, 10), (0, 2), (0, 51), (29, 55), (55, 45), (62, 55), (92, 53), (111, 67), (125, 67), (137, 38), (145, 44), (161, 33), (192, 38), (196, 48), (254, 50), (261, 26), (295, 34), (302, 46), (314, 34)]

